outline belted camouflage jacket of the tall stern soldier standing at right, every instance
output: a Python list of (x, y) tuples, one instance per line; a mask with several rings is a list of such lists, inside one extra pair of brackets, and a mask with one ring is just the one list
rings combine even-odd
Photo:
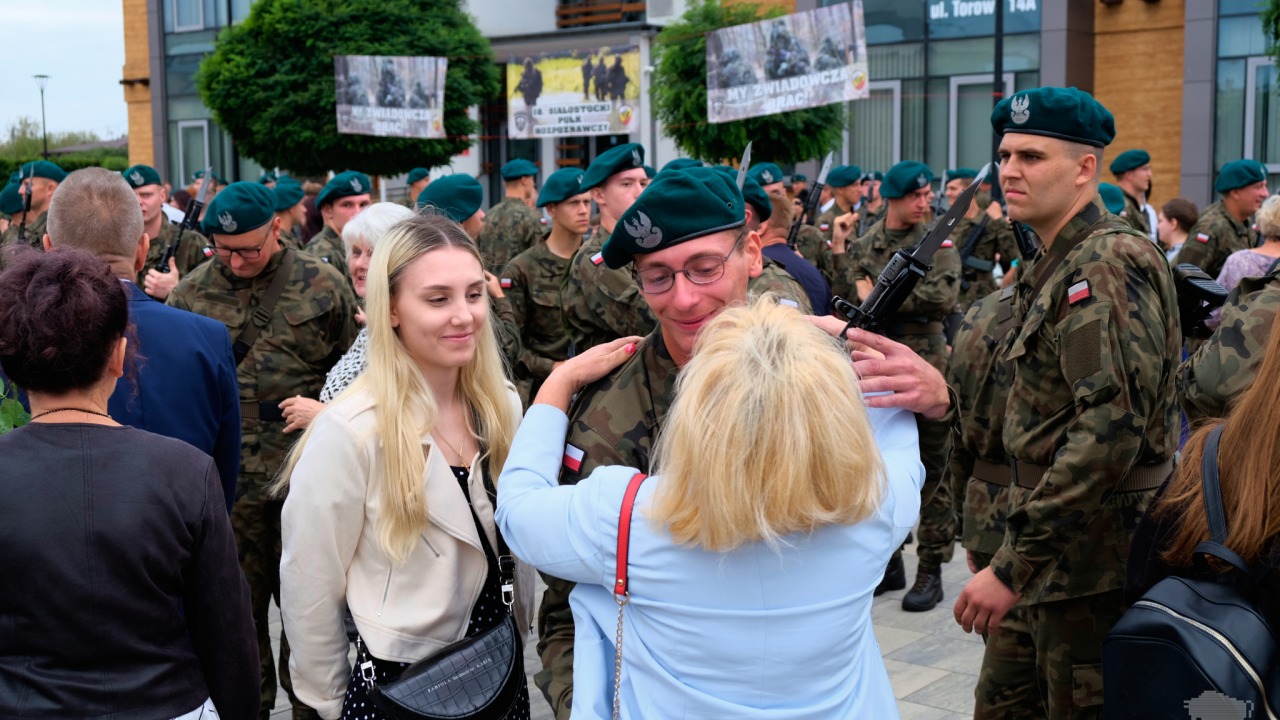
[[(1121, 588), (1133, 530), (1156, 491), (1117, 487), (1178, 448), (1172, 273), (1149, 238), (1121, 225), (1088, 206), (1032, 272), (1018, 273), (1020, 327), (1002, 346), (1012, 372), (1004, 445), (1010, 457), (1048, 470), (1023, 478), (1034, 489), (1011, 489), (991, 565), (1023, 602)], [(1065, 260), (1053, 268), (1056, 249)], [(1046, 268), (1052, 274), (1033, 297)]]

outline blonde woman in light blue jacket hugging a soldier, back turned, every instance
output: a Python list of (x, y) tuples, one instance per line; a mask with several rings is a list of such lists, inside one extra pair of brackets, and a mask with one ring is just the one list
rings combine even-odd
[[(564, 409), (635, 340), (550, 374), (499, 483), (512, 551), (579, 583), (575, 717), (612, 710), (618, 514), (635, 470), (557, 486)], [(622, 716), (897, 717), (870, 606), (919, 512), (915, 441), (914, 416), (867, 409), (849, 355), (796, 310), (765, 299), (703, 328), (635, 503)]]

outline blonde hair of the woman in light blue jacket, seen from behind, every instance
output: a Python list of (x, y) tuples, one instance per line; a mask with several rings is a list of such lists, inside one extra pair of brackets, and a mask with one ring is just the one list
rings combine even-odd
[(650, 519), (712, 551), (854, 524), (884, 491), (849, 356), (769, 296), (703, 329), (655, 455)]

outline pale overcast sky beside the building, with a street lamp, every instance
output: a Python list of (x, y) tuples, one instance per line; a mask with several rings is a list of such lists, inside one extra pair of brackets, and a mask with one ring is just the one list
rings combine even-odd
[(26, 115), (40, 123), (46, 74), (49, 132), (93, 131), (104, 140), (128, 133), (120, 86), (124, 19), (120, 0), (0, 0), (0, 133)]

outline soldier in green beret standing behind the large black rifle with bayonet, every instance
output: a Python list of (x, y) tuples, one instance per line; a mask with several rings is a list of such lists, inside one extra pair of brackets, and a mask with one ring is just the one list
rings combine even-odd
[[(884, 174), (881, 186), (888, 202), (884, 219), (850, 243), (847, 251), (845, 238), (832, 238), (836, 269), (842, 275), (844, 287), (852, 287), (859, 297), (865, 297), (895, 251), (914, 247), (924, 240), (924, 215), (929, 209), (933, 173), (922, 163), (899, 163)], [(960, 255), (947, 241), (934, 254), (933, 269), (915, 286), (899, 314), (887, 319), (884, 336), (910, 347), (938, 372), (946, 370), (947, 340), (942, 322), (955, 311), (959, 297)], [(922, 438), (947, 437), (945, 427), (925, 419), (920, 419), (919, 430)], [(942, 483), (947, 462), (946, 442), (922, 442), (920, 461), (925, 473), (920, 491), (920, 564), (914, 585), (902, 598), (902, 609), (908, 611), (932, 610), (942, 600), (942, 565), (951, 560), (955, 539), (951, 488)], [(906, 587), (905, 573), (899, 550), (890, 559), (884, 582), (876, 588), (876, 593)]]

